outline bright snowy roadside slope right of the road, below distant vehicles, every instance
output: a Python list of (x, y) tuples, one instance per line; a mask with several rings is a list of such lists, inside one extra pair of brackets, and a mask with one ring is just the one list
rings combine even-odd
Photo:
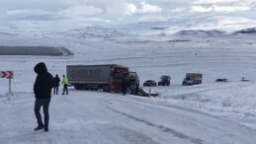
[(161, 101), (206, 108), (221, 112), (256, 115), (254, 82), (212, 83), (192, 87), (174, 87), (160, 92)]

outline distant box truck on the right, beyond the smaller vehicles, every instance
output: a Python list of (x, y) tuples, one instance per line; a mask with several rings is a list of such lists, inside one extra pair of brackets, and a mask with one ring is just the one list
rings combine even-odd
[(203, 75), (201, 73), (187, 73), (183, 80), (183, 86), (202, 84)]

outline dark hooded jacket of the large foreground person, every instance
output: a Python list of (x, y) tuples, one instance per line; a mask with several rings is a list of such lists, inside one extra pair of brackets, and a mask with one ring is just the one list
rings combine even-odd
[(38, 74), (34, 84), (36, 99), (50, 99), (51, 89), (53, 87), (52, 75), (47, 72), (47, 68), (43, 62), (38, 63), (34, 67), (34, 71)]

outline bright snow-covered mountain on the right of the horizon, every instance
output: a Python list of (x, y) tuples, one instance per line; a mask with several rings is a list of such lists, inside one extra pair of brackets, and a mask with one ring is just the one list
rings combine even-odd
[(166, 22), (144, 22), (118, 27), (144, 36), (227, 36), (255, 28), (256, 21), (229, 16), (191, 17)]

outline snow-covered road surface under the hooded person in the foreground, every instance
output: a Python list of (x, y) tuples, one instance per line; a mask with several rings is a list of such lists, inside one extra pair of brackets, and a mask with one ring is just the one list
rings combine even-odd
[(119, 94), (52, 96), (49, 132), (33, 131), (34, 95), (0, 97), (1, 144), (254, 144), (256, 131), (195, 109)]

